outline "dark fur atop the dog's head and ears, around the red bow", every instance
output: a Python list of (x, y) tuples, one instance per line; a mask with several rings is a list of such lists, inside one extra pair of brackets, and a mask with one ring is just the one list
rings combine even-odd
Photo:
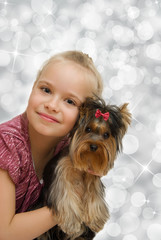
[[(109, 119), (107, 124), (110, 127), (112, 136), (116, 139), (117, 150), (122, 149), (122, 138), (125, 135), (128, 125), (131, 122), (131, 114), (127, 109), (128, 103), (118, 107), (116, 105), (106, 104), (106, 102), (98, 97), (86, 98), (86, 101), (80, 107), (80, 121), (79, 124), (88, 123), (95, 118), (96, 110), (99, 109), (102, 113), (109, 112)], [(103, 117), (97, 120), (104, 121)]]

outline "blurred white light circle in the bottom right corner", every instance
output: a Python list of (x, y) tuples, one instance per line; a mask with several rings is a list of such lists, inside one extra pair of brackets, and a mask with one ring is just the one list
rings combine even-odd
[(161, 224), (153, 223), (147, 229), (147, 235), (150, 240), (161, 239)]

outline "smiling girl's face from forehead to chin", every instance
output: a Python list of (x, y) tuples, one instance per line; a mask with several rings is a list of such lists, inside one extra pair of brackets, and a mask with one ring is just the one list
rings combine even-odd
[(79, 106), (92, 93), (87, 70), (76, 63), (50, 63), (32, 89), (27, 117), (41, 135), (63, 137), (74, 126)]

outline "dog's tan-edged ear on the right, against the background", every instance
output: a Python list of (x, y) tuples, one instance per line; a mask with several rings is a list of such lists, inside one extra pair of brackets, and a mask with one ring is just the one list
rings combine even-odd
[(120, 113), (122, 116), (122, 128), (121, 128), (121, 137), (123, 137), (128, 129), (128, 126), (131, 123), (131, 113), (129, 112), (128, 108), (128, 103), (124, 103), (123, 105), (120, 106)]

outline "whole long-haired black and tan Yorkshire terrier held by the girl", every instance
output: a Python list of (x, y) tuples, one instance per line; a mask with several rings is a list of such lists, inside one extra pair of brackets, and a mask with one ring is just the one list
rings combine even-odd
[(131, 122), (127, 103), (106, 105), (87, 98), (71, 133), (71, 143), (44, 170), (43, 203), (58, 225), (39, 240), (92, 240), (109, 218), (101, 177), (113, 167)]

